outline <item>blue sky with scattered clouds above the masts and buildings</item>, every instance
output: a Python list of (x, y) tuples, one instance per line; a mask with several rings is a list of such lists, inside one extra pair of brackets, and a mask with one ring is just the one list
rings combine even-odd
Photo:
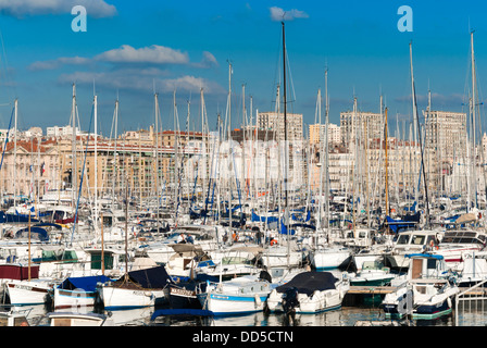
[[(87, 32), (72, 30), (71, 9), (85, 5)], [(398, 8), (413, 10), (413, 32), (401, 33)], [(274, 10), (272, 10), (274, 8)], [(233, 125), (241, 122), (241, 86), (247, 108), (274, 110), (280, 73), (280, 23), (292, 90), (290, 110), (314, 123), (317, 89), (324, 94), (328, 67), (330, 122), (350, 110), (353, 96), (363, 111), (378, 112), (385, 98), (392, 122), (411, 121), (409, 42), (413, 42), (420, 110), (428, 87), (433, 108), (465, 109), (470, 88), (470, 28), (475, 29), (479, 97), (487, 71), (487, 28), (483, 1), (127, 1), (0, 0), (0, 127), (14, 98), (20, 127), (65, 125), (72, 84), (77, 85), (82, 127), (91, 113), (93, 85), (99, 129), (110, 134), (120, 98), (121, 130), (153, 123), (153, 90), (160, 95), (164, 129), (173, 128), (173, 92), (185, 127), (190, 100), (191, 128), (200, 129), (199, 90), (204, 88), (210, 127), (225, 115), (228, 61), (233, 64)]]

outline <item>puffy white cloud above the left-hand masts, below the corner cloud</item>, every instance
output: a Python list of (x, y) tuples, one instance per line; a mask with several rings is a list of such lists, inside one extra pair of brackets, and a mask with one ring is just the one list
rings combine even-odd
[(153, 63), (153, 64), (186, 64), (188, 53), (168, 47), (152, 45), (135, 49), (129, 45), (103, 52), (96, 60), (111, 63)]

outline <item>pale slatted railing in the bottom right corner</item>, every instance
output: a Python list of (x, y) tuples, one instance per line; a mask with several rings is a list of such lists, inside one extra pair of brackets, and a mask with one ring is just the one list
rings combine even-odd
[(455, 326), (485, 326), (485, 304), (487, 301), (487, 279), (466, 288), (454, 298)]

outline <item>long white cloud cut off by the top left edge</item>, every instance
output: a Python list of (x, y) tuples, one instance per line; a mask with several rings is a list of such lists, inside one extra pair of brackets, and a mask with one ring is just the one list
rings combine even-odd
[(75, 5), (83, 5), (89, 16), (110, 17), (116, 8), (105, 0), (0, 0), (0, 13), (15, 17), (42, 14), (71, 13)]

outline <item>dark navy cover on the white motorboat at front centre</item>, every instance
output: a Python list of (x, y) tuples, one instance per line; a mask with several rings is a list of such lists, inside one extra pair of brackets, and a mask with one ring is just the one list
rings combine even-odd
[(330, 272), (303, 272), (296, 275), (284, 285), (276, 287), (277, 293), (286, 293), (289, 288), (296, 288), (299, 294), (312, 295), (315, 290), (323, 291), (335, 289), (338, 279)]

